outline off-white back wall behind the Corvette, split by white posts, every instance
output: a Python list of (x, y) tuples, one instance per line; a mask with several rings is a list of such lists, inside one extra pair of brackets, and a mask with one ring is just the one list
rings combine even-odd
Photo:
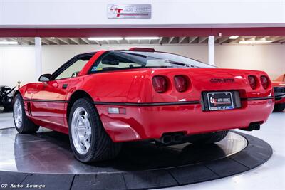
[[(43, 46), (42, 73), (52, 73), (78, 53), (100, 49), (128, 49), (138, 45), (120, 46)], [(207, 62), (207, 44), (139, 45), (167, 51)], [(265, 70), (272, 79), (285, 73), (285, 45), (216, 45), (215, 62), (220, 68)], [(16, 85), (18, 80), (34, 80), (33, 46), (0, 46), (0, 85)]]

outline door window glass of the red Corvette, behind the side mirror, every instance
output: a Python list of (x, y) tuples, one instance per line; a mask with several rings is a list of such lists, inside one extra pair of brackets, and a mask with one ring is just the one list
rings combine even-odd
[(78, 75), (78, 73), (84, 68), (88, 60), (90, 60), (92, 56), (85, 56), (78, 58), (73, 64), (71, 64), (68, 68), (63, 70), (55, 80), (63, 79), (63, 78), (73, 78)]

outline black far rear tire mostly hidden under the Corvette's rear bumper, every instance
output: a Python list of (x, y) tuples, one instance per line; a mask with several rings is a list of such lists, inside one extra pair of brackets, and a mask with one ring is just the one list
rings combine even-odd
[(219, 142), (227, 136), (229, 131), (211, 132), (206, 134), (195, 134), (187, 137), (186, 141), (192, 144), (212, 144)]

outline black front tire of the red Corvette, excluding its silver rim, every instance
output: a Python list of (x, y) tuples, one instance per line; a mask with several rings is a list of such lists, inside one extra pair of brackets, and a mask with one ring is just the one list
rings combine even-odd
[[(15, 122), (15, 102), (19, 100), (19, 103), (21, 104), (21, 124), (17, 127)], [(13, 101), (13, 119), (14, 119), (14, 125), (16, 130), (19, 133), (34, 133), (38, 130), (39, 126), (34, 124), (28, 117), (26, 116), (26, 112), (24, 109), (24, 101), (20, 94), (17, 94)]]

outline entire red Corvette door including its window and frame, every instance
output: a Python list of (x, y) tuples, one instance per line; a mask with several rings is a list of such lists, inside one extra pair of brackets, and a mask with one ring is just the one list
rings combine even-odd
[[(75, 56), (56, 70), (46, 82), (38, 83), (31, 98), (31, 117), (43, 127), (68, 127), (66, 121), (66, 95), (69, 83), (76, 78), (94, 53)], [(66, 131), (66, 130), (65, 130)]]

